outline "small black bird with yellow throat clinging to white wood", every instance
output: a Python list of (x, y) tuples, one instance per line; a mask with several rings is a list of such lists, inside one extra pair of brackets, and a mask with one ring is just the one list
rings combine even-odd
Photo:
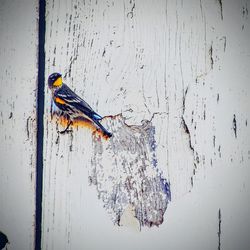
[(82, 117), (94, 122), (102, 130), (104, 135), (108, 137), (112, 136), (112, 134), (108, 132), (99, 122), (102, 117), (98, 115), (88, 103), (86, 103), (65, 83), (63, 83), (61, 74), (51, 74), (48, 78), (48, 85), (52, 91), (52, 97), (55, 105), (69, 118), (67, 128), (61, 133), (67, 131), (69, 126), (72, 124), (73, 119)]

